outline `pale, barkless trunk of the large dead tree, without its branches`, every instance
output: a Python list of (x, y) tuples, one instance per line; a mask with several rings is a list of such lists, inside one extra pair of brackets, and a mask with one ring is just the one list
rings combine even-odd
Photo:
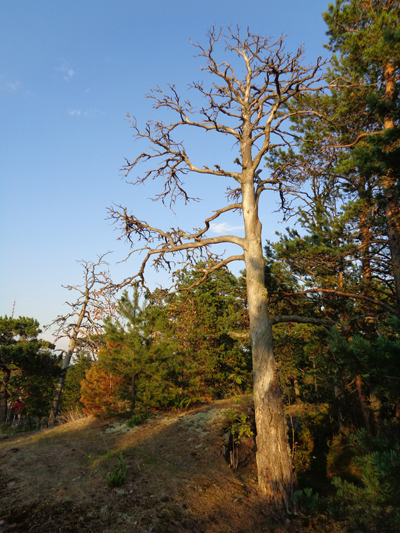
[[(245, 163), (245, 158), (243, 158)], [(258, 486), (276, 508), (292, 508), (296, 476), (287, 438), (283, 395), (272, 343), (264, 281), (261, 222), (252, 174), (242, 174), (247, 299), (253, 356), (253, 397), (257, 430)]]

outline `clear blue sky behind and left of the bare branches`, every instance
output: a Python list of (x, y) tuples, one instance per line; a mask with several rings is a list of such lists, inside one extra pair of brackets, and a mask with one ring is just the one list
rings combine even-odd
[[(115, 281), (136, 272), (137, 257), (115, 264), (129, 249), (106, 220), (113, 202), (160, 227), (186, 228), (201, 226), (224, 205), (228, 184), (212, 180), (189, 181), (204, 201), (180, 206), (176, 215), (148, 200), (157, 184), (127, 185), (119, 171), (124, 157), (133, 159), (146, 146), (132, 142), (126, 114), (141, 125), (162, 118), (144, 98), (149, 89), (173, 82), (185, 94), (201, 79), (202, 61), (193, 57), (189, 38), (205, 44), (213, 24), (288, 35), (287, 51), (304, 43), (306, 62), (314, 62), (326, 55), (326, 8), (321, 0), (1, 2), (0, 316), (11, 315), (16, 299), (15, 316), (50, 323), (67, 311), (71, 294), (61, 285), (81, 281), (77, 261), (108, 250)], [(223, 144), (192, 145), (201, 165), (236, 157)], [(283, 229), (275, 209), (275, 199), (266, 197), (264, 239)], [(224, 221), (240, 233), (237, 215)], [(149, 283), (168, 279), (150, 272)]]

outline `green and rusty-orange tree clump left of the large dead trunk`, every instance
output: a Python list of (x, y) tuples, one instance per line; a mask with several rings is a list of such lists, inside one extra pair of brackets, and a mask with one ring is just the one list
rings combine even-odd
[(106, 386), (106, 375), (118, 378), (118, 398), (107, 402), (108, 412), (112, 405), (118, 412), (122, 405), (130, 411), (189, 407), (250, 388), (249, 342), (231, 335), (248, 327), (243, 282), (224, 269), (185, 290), (201, 275), (199, 269), (182, 271), (178, 292), (156, 291), (142, 305), (138, 290), (132, 299), (124, 293), (118, 317), (105, 320), (97, 373), (90, 370), (83, 382), (86, 410), (92, 405), (101, 412), (105, 396), (96, 387)]

